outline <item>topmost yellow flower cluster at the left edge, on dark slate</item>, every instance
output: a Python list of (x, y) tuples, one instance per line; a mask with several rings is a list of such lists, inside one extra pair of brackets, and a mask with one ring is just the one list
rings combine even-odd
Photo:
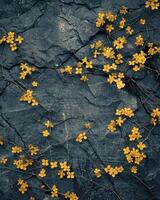
[(20, 45), (23, 42), (22, 36), (15, 36), (15, 32), (8, 32), (7, 35), (4, 35), (0, 39), (0, 44), (8, 44), (11, 51), (16, 51), (18, 49), (18, 45)]

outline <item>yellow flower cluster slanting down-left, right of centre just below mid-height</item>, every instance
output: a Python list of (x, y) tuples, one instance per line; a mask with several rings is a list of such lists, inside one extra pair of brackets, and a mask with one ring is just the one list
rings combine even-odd
[(126, 117), (131, 118), (134, 116), (134, 111), (131, 108), (121, 108), (117, 109), (115, 115), (118, 117), (114, 120), (111, 120), (107, 125), (107, 129), (114, 133), (117, 130), (117, 126), (121, 127), (126, 121)]

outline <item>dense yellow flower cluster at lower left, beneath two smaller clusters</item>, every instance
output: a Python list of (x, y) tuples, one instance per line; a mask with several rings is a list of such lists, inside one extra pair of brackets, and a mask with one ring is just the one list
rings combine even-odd
[(33, 165), (33, 160), (25, 158), (23, 155), (19, 157), (18, 160), (14, 160), (13, 164), (17, 169), (26, 171), (29, 166)]

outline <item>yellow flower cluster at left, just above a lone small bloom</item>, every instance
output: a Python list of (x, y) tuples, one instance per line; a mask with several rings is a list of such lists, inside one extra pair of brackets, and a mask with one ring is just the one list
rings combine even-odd
[(20, 65), (20, 79), (25, 79), (26, 76), (31, 75), (36, 71), (35, 67), (30, 67), (27, 63), (21, 63)]

